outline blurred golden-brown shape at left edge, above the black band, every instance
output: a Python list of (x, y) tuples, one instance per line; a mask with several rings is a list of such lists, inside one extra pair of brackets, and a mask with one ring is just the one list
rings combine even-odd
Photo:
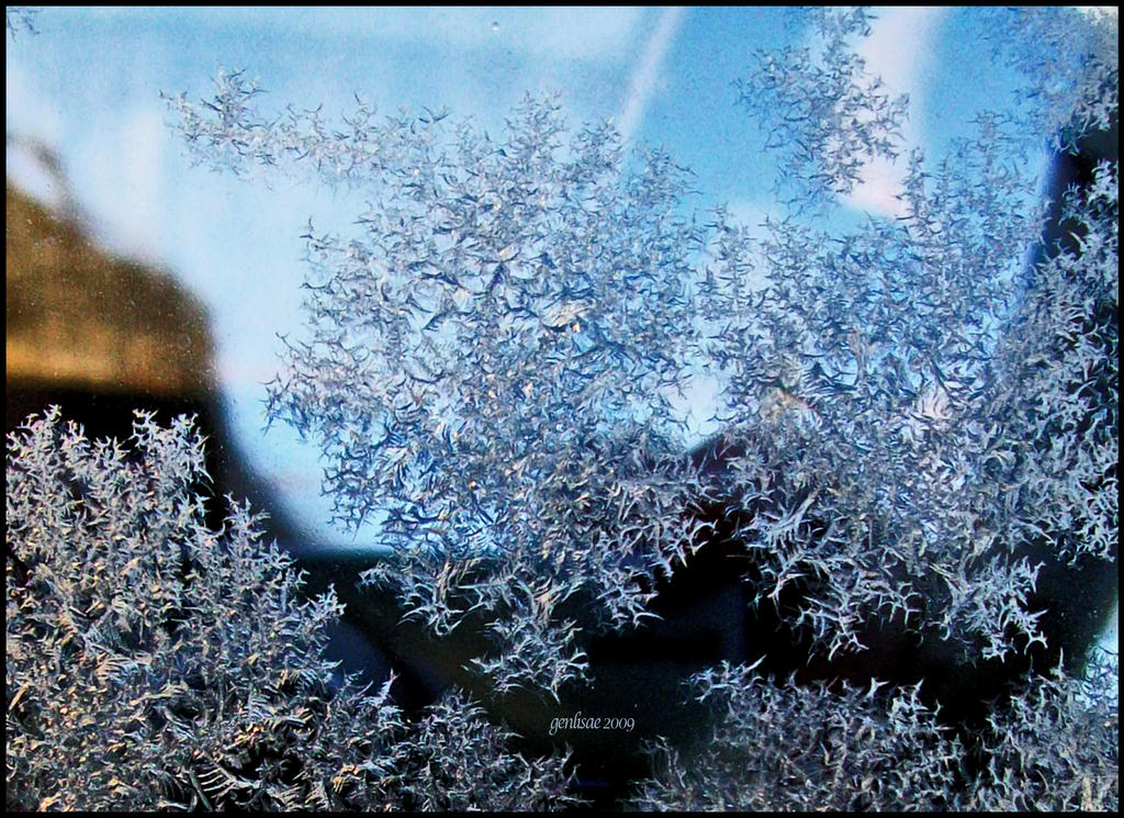
[[(57, 162), (43, 164), (57, 175)], [(99, 249), (74, 215), (54, 212), (10, 183), (6, 211), (9, 387), (198, 398), (212, 391), (206, 309), (171, 275)]]

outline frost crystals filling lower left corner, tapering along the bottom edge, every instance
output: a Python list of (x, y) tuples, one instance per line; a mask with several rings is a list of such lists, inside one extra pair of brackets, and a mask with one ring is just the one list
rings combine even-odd
[(333, 592), (301, 601), (291, 558), (232, 505), (203, 524), (202, 440), (139, 415), (135, 455), (63, 428), (8, 439), (9, 807), (546, 809), (561, 757), (527, 762), (453, 692), (408, 725), (387, 682), (333, 679)]

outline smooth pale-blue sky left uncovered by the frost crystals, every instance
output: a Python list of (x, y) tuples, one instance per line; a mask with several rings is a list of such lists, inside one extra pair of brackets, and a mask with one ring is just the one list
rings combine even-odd
[[(970, 16), (880, 9), (861, 54), (891, 92), (907, 92), (910, 145), (939, 153), (977, 110), (1009, 103)], [(299, 337), (299, 238), (346, 229), (362, 197), (271, 178), (271, 188), (192, 169), (160, 92), (209, 96), (219, 67), (244, 67), (281, 108), (346, 110), (357, 93), (380, 110), (448, 107), (497, 134), (525, 91), (561, 91), (572, 124), (613, 117), (626, 137), (665, 147), (697, 174), (699, 207), (728, 204), (751, 224), (777, 212), (778, 169), (734, 104), (755, 48), (799, 40), (782, 10), (737, 8), (308, 9), (55, 8), (38, 36), (9, 39), (7, 129), (62, 157), (75, 199), (110, 248), (170, 269), (210, 310), (233, 427), (253, 465), (324, 542), (316, 451), (282, 425), (263, 434), (262, 383), (278, 333)], [(16, 184), (48, 201), (62, 191), (18, 151)], [(870, 166), (845, 202), (892, 216), (898, 166)], [(706, 397), (696, 415), (706, 417)], [(705, 430), (701, 426), (700, 433)]]

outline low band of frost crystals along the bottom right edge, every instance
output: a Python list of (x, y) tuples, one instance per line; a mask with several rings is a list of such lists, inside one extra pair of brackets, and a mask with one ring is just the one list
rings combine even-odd
[[(1026, 682), (970, 752), (915, 687), (800, 687), (725, 664), (692, 685), (719, 720), (689, 760), (654, 744), (635, 809), (1113, 810), (1120, 801), (1117, 702), (1099, 692), (1090, 707), (1081, 698), (1090, 685), (1061, 672)], [(980, 758), (986, 766), (971, 770)]]

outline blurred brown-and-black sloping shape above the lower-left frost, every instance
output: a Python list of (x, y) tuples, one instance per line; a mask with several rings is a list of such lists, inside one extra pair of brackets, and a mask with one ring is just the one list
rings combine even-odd
[(127, 439), (135, 409), (154, 411), (162, 425), (194, 416), (215, 481), (208, 524), (221, 526), (220, 498), (230, 492), (269, 511), (268, 537), (306, 540), (230, 435), (206, 307), (170, 272), (96, 244), (51, 148), (9, 134), (8, 149), (31, 158), (62, 202), (48, 207), (6, 184), (7, 430), (51, 405), (88, 438)]

